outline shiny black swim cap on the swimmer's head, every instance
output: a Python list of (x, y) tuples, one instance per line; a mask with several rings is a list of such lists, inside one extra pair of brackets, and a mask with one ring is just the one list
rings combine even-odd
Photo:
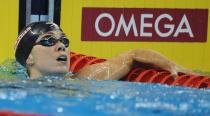
[(61, 28), (53, 22), (34, 22), (23, 28), (15, 42), (15, 57), (16, 60), (25, 67), (26, 59), (36, 40), (41, 34), (49, 31), (61, 30)]

